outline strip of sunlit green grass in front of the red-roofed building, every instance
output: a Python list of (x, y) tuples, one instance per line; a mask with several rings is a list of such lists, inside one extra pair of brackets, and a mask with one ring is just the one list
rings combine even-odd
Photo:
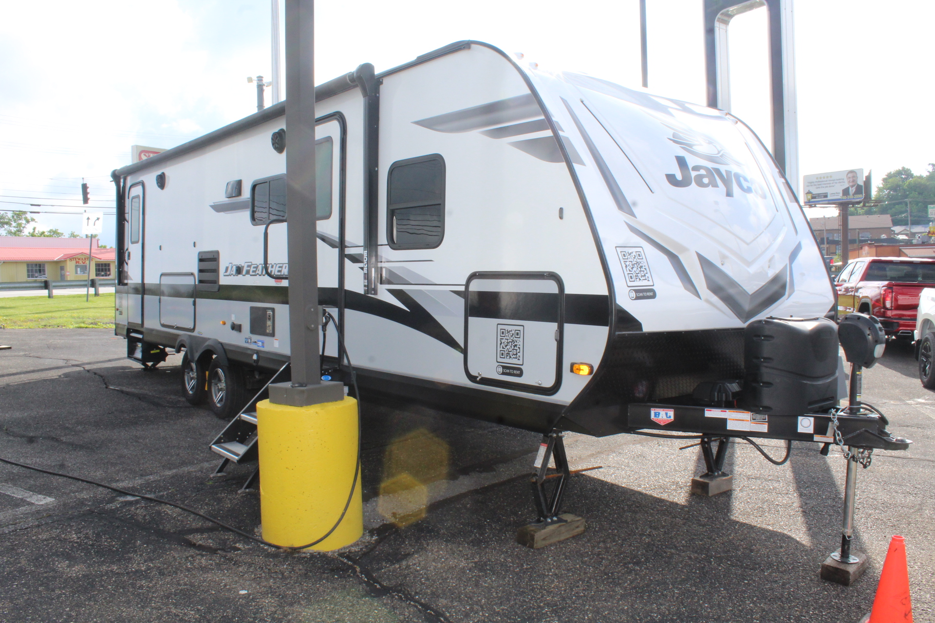
[(108, 329), (114, 326), (114, 295), (84, 293), (0, 298), (0, 324), (7, 329)]

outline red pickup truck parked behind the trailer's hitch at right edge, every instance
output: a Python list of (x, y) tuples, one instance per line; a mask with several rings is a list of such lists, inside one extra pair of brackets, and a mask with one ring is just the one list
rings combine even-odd
[(935, 288), (935, 260), (858, 258), (835, 280), (838, 316), (851, 312), (880, 319), (887, 337), (913, 339), (919, 293)]

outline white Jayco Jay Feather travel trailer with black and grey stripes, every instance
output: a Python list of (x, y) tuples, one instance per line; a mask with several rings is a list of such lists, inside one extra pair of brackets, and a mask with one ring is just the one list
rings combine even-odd
[[(474, 41), (317, 100), (320, 302), (362, 389), (543, 433), (827, 441), (835, 291), (743, 122)], [(113, 174), (117, 333), (146, 365), (184, 350), (222, 417), (289, 360), (285, 105)], [(785, 369), (751, 354), (774, 325)]]

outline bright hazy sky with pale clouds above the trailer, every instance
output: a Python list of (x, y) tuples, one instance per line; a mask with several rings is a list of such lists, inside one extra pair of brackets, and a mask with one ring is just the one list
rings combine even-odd
[[(32, 215), (39, 229), (79, 231), (83, 179), (90, 209), (106, 214), (102, 243), (113, 245), (109, 173), (130, 162), (131, 145), (171, 148), (255, 112), (246, 78), (271, 77), (270, 1), (8, 3), (0, 201), (14, 203), (0, 208), (41, 212)], [(704, 104), (702, 0), (646, 4), (649, 90)], [(796, 3), (803, 175), (863, 168), (876, 185), (900, 166), (924, 173), (935, 162), (926, 69), (935, 3), (881, 7)], [(319, 0), (315, 8), (317, 82), (477, 39), (549, 70), (640, 86), (638, 0)], [(736, 17), (729, 37), (732, 112), (769, 145), (766, 9)]]

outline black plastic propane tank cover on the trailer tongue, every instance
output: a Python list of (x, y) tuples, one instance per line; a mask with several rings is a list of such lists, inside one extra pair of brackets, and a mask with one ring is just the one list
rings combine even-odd
[(798, 416), (838, 404), (838, 331), (824, 318), (768, 318), (747, 325), (740, 404)]

